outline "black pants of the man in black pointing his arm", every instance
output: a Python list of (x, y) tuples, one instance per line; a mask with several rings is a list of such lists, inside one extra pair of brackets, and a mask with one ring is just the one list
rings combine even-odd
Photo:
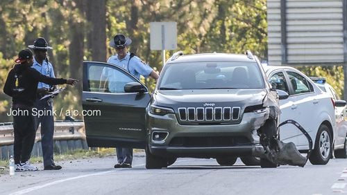
[(15, 163), (25, 163), (31, 157), (35, 142), (35, 122), (31, 109), (12, 109), (17, 114), (13, 115), (13, 129), (15, 131), (15, 141), (13, 143), (13, 152)]

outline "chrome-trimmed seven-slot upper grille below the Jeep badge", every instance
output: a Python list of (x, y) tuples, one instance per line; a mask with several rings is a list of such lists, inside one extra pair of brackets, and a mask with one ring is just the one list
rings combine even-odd
[(239, 120), (240, 110), (240, 107), (187, 107), (179, 108), (178, 115), (181, 121), (228, 122)]

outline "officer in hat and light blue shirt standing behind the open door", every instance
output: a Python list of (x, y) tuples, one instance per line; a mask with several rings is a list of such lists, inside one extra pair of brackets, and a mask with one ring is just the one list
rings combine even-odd
[[(108, 63), (124, 68), (138, 79), (142, 75), (157, 80), (159, 77), (158, 73), (153, 71), (153, 69), (139, 59), (139, 57), (128, 52), (128, 46), (131, 42), (129, 37), (122, 34), (115, 35), (110, 41), (110, 46), (116, 49), (117, 54), (108, 58)], [(133, 149), (117, 147), (117, 160), (118, 163), (115, 165), (115, 168), (131, 168), (131, 163), (133, 163)]]

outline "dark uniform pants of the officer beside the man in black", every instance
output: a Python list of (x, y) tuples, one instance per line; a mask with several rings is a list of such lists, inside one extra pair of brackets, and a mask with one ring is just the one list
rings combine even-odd
[[(37, 113), (39, 111), (44, 111), (46, 113), (50, 113), (48, 111), (52, 111), (52, 103), (51, 99), (47, 100), (36, 100), (35, 108), (37, 109)], [(54, 118), (53, 114), (45, 114), (42, 116), (35, 117), (36, 130), (41, 123), (41, 146), (42, 146), (42, 156), (44, 159), (44, 167), (53, 165), (53, 133), (54, 133)]]

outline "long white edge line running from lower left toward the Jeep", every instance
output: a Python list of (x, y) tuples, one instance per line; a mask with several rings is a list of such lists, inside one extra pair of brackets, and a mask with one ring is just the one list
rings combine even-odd
[[(178, 160), (176, 162), (185, 162), (185, 161), (192, 161), (192, 160)], [(133, 167), (142, 167), (144, 165), (146, 165), (146, 164), (135, 165)], [(56, 185), (58, 183), (63, 183), (63, 182), (68, 181), (68, 180), (75, 180), (75, 179), (79, 179), (79, 178), (86, 178), (86, 177), (89, 177), (89, 176), (99, 176), (99, 175), (108, 174), (108, 173), (112, 173), (112, 172), (115, 172), (115, 169), (112, 169), (112, 171), (103, 171), (103, 172), (96, 173), (96, 174), (87, 174), (87, 175), (83, 175), (83, 176), (76, 176), (76, 177), (66, 178), (66, 179), (62, 179), (62, 180), (56, 180), (56, 181), (53, 181), (51, 183), (46, 183), (44, 185), (38, 185), (38, 186), (34, 186), (34, 187), (29, 187), (27, 189), (22, 189), (22, 190), (19, 190), (18, 192), (13, 192), (13, 193), (11, 193), (9, 195), (26, 194), (28, 192), (33, 192), (33, 191), (35, 191), (37, 189), (42, 189), (42, 188), (47, 187), (47, 186)]]

